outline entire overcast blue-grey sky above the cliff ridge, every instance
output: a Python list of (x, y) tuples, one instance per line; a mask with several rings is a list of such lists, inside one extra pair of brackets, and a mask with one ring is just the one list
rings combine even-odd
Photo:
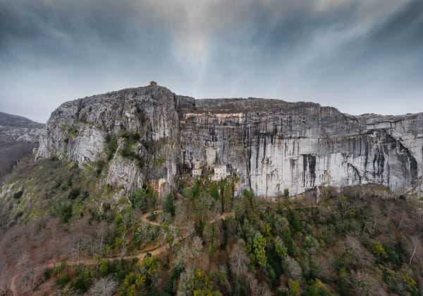
[(422, 0), (0, 0), (0, 111), (150, 80), (178, 95), (423, 112)]

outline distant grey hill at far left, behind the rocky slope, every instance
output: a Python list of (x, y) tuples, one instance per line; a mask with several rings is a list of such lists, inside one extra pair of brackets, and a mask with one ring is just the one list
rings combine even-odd
[(43, 128), (44, 124), (0, 112), (0, 179), (38, 147), (39, 133)]

